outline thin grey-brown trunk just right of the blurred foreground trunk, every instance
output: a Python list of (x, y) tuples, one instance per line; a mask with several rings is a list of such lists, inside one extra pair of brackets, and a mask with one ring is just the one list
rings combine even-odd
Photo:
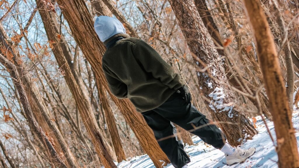
[[(281, 16), (281, 13), (278, 9), (277, 3), (275, 0), (272, 0), (272, 7), (274, 9), (274, 15), (276, 17), (278, 27), (280, 30), (280, 37), (281, 41), (283, 42), (286, 37), (286, 26), (283, 21), (283, 17)], [(292, 114), (293, 111), (293, 94), (294, 94), (294, 67), (293, 67), (293, 61), (292, 61), (292, 54), (290, 49), (290, 43), (289, 40), (286, 39), (286, 45), (283, 48), (284, 56), (286, 60), (286, 96), (288, 97), (289, 105), (290, 105), (290, 112)]]

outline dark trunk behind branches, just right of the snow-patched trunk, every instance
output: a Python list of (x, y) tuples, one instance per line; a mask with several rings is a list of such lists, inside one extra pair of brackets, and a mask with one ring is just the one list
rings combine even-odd
[[(218, 43), (218, 45), (220, 45), (221, 47), (223, 47), (222, 44), (222, 40), (219, 34), (219, 30), (218, 27), (216, 26), (216, 23), (214, 22), (210, 11), (208, 10), (208, 6), (206, 4), (205, 0), (195, 0), (195, 5), (197, 7), (197, 11), (199, 12), (200, 17), (202, 18), (202, 22), (204, 23), (204, 25), (206, 25), (206, 28), (208, 29), (208, 32), (210, 34), (210, 36), (212, 37), (212, 39), (214, 41), (216, 41)], [(214, 42), (215, 43), (215, 42)], [(215, 43), (216, 46), (216, 43)], [(222, 49), (217, 49), (219, 55), (224, 56), (224, 50)], [(238, 81), (242, 81), (240, 76), (237, 73), (232, 73), (230, 71), (230, 69), (227, 67), (229, 66), (229, 62), (226, 62), (227, 65), (224, 65), (224, 69), (225, 69), (225, 73), (226, 73), (226, 77), (228, 79), (228, 82), (234, 86), (235, 88), (240, 89), (243, 92), (247, 92), (246, 91), (246, 87), (240, 87), (240, 84)], [(236, 79), (237, 78), (237, 79)], [(254, 90), (254, 87), (251, 83), (247, 83), (248, 88), (250, 89), (250, 92), (255, 93), (256, 90)], [(243, 90), (242, 88), (244, 88), (245, 90)], [(261, 107), (262, 107), (262, 111), (263, 114), (272, 121), (272, 116), (271, 113), (269, 112), (269, 102), (268, 102), (268, 98), (265, 97), (263, 95), (263, 93), (260, 91), (258, 93), (260, 102), (261, 102)], [(252, 99), (251, 97), (248, 97), (248, 99), (254, 104), (254, 106), (257, 107), (257, 109), (259, 109), (260, 104), (257, 102), (256, 99)]]

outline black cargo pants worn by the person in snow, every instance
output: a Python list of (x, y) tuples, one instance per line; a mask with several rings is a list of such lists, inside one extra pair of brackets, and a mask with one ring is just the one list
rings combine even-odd
[[(177, 140), (176, 128), (173, 123), (186, 130), (202, 126), (210, 122), (205, 115), (200, 113), (191, 102), (187, 103), (182, 99), (179, 92), (174, 93), (165, 103), (156, 109), (143, 112), (144, 119), (153, 130), (158, 144), (175, 168), (181, 168), (190, 162), (190, 158), (184, 151), (184, 146)], [(199, 136), (205, 143), (216, 149), (222, 148), (225, 144), (225, 136), (215, 125), (204, 126), (191, 132)], [(171, 138), (167, 138), (171, 137)]]

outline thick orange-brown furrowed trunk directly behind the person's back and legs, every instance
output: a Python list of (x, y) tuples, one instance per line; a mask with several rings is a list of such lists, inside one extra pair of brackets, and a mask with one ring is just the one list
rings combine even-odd
[(119, 100), (110, 92), (103, 69), (101, 68), (102, 56), (106, 49), (94, 30), (94, 22), (84, 1), (57, 0), (57, 2), (62, 8), (63, 16), (70, 26), (74, 39), (91, 64), (94, 73), (98, 76), (100, 81), (97, 82), (101, 83), (108, 91), (112, 100), (122, 112), (126, 122), (132, 128), (144, 151), (147, 152), (156, 167), (161, 167), (161, 161), (170, 163), (155, 140), (152, 130), (147, 126), (142, 115), (136, 112), (132, 103), (127, 99)]

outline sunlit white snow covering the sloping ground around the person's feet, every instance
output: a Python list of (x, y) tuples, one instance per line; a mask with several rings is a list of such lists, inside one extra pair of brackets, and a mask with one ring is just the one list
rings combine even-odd
[[(214, 149), (212, 146), (206, 146), (203, 141), (197, 136), (193, 136), (193, 142), (195, 145), (185, 146), (185, 151), (190, 155), (191, 163), (190, 168), (275, 168), (277, 166), (277, 153), (275, 152), (273, 143), (270, 139), (269, 133), (266, 130), (266, 126), (263, 123), (261, 117), (256, 117), (258, 135), (255, 135), (252, 140), (245, 142), (242, 149), (248, 149), (249, 147), (255, 147), (256, 152), (244, 163), (235, 164), (232, 166), (226, 165), (224, 154)], [(293, 123), (297, 130), (296, 138), (299, 141), (299, 112), (293, 113)], [(276, 140), (273, 122), (267, 120), (270, 132), (273, 138)], [(161, 164), (163, 164), (161, 162)], [(131, 158), (130, 161), (123, 161), (118, 164), (118, 168), (155, 168), (154, 164), (150, 160), (148, 155), (137, 156)], [(165, 166), (165, 168), (173, 168), (171, 164)]]

